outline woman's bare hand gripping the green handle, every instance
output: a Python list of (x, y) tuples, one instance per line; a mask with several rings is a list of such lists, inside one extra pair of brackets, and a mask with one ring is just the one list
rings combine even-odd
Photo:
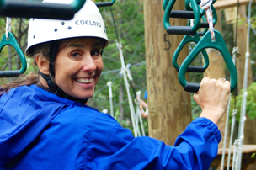
[(226, 113), (228, 99), (230, 97), (230, 82), (224, 78), (210, 79), (204, 77), (200, 82), (198, 93), (194, 93), (194, 100), (200, 105), (202, 113), (200, 117), (210, 119), (216, 125)]

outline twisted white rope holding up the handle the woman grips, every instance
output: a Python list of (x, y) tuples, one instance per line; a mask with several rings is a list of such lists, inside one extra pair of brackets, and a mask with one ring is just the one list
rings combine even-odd
[(205, 13), (207, 16), (207, 22), (209, 24), (209, 29), (211, 31), (211, 40), (215, 40), (215, 33), (214, 33), (214, 25), (213, 25), (213, 16), (211, 10), (212, 0), (201, 0), (200, 8), (205, 9)]

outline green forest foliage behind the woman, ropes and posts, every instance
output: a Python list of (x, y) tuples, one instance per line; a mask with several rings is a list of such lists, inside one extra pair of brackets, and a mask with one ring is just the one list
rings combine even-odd
[[(98, 1), (96, 1), (98, 2)], [(142, 1), (134, 0), (117, 0), (112, 7), (102, 7), (99, 8), (103, 17), (105, 26), (107, 29), (108, 38), (110, 40), (109, 46), (104, 49), (103, 60), (104, 60), (104, 71), (98, 82), (94, 97), (89, 99), (88, 105), (95, 109), (102, 111), (104, 109), (108, 110), (110, 114), (110, 104), (109, 104), (109, 86), (108, 82), (112, 82), (112, 92), (113, 92), (113, 110), (115, 119), (120, 122), (126, 128), (132, 130), (131, 125), (131, 111), (128, 104), (128, 96), (125, 89), (125, 82), (122, 76), (122, 66), (120, 61), (119, 50), (117, 49), (116, 43), (120, 42), (122, 45), (122, 51), (124, 54), (125, 65), (129, 67), (131, 71), (131, 83), (130, 93), (132, 100), (135, 100), (136, 96), (134, 92), (141, 91), (143, 94), (147, 89), (147, 78), (146, 78), (146, 66), (145, 61), (145, 42), (144, 42), (144, 16), (143, 16), (143, 3)], [(160, 10), (160, 9), (159, 9)], [(113, 13), (113, 15), (112, 15)], [(252, 25), (256, 27), (255, 15), (256, 8), (253, 4), (252, 8)], [(225, 14), (222, 11), (222, 20), (218, 20), (222, 25), (222, 36), (227, 43), (227, 47), (232, 53), (233, 48), (233, 24), (227, 24), (225, 22)], [(13, 18), (12, 19), (12, 33), (15, 39), (19, 43), (19, 46), (24, 51), (27, 45), (27, 31), (28, 31), (29, 19)], [(238, 20), (238, 24), (247, 24), (245, 20)], [(0, 18), (0, 34), (4, 35), (6, 31), (6, 18)], [(251, 31), (250, 35), (250, 55), (251, 64), (253, 68), (253, 83), (248, 88), (248, 115), (255, 119), (256, 117), (256, 75), (255, 75), (255, 62), (256, 61), (256, 36)], [(191, 45), (192, 48), (193, 45)], [(244, 57), (245, 54), (241, 54)], [(172, 57), (172, 56), (169, 56)], [(28, 68), (24, 74), (30, 71), (37, 72), (33, 64), (33, 60), (27, 57)], [(201, 64), (200, 60), (198, 61)], [(10, 45), (4, 46), (0, 53), (0, 69), (4, 70), (19, 70), (21, 67), (21, 62), (19, 56), (17, 56), (16, 51)], [(157, 69), (157, 68), (156, 68)], [(202, 76), (191, 74), (190, 77), (194, 82), (200, 82)], [(6, 83), (13, 81), (15, 78), (1, 78), (0, 83)], [(157, 92), (156, 92), (157, 93)], [(237, 96), (237, 105), (241, 101), (241, 95), (235, 94)], [(191, 93), (192, 97), (192, 93)], [(146, 100), (147, 101), (147, 100)], [(200, 109), (198, 105), (195, 104), (194, 100), (191, 99), (193, 118), (200, 114)], [(136, 106), (135, 106), (136, 108)], [(144, 127), (147, 134), (147, 120), (143, 120)]]

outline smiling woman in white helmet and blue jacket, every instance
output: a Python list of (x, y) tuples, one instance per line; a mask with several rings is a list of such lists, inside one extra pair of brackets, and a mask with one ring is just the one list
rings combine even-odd
[(202, 80), (194, 95), (200, 118), (167, 146), (134, 138), (85, 104), (109, 44), (94, 3), (87, 0), (70, 21), (30, 19), (28, 36), (26, 54), (40, 74), (1, 88), (0, 169), (208, 169), (221, 141), (216, 124), (227, 108), (228, 81)]

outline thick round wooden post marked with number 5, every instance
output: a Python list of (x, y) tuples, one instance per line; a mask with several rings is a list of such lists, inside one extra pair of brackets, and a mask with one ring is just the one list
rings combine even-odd
[[(184, 9), (184, 0), (173, 9)], [(190, 93), (179, 84), (173, 68), (174, 50), (184, 35), (168, 35), (163, 27), (163, 0), (144, 0), (149, 135), (173, 145), (191, 121)], [(171, 25), (186, 25), (186, 19), (170, 19)], [(179, 63), (188, 55), (181, 51)]]

